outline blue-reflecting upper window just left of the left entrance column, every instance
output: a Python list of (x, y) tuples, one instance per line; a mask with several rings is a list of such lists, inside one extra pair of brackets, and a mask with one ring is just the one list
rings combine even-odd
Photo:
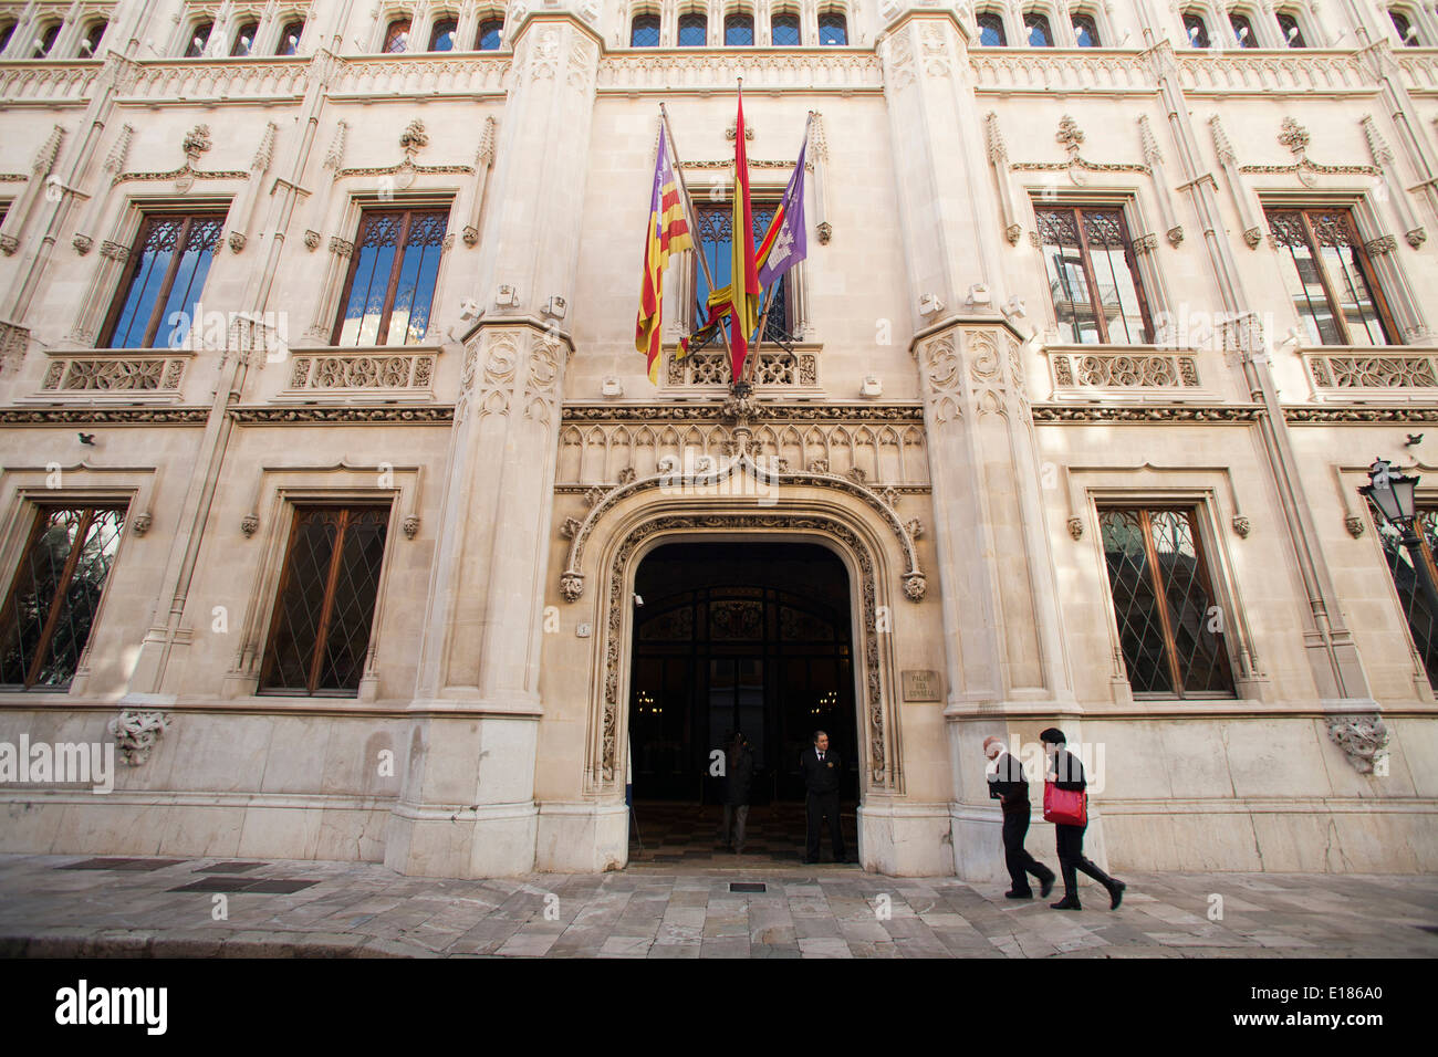
[(424, 341), (447, 224), (447, 209), (377, 209), (361, 214), (332, 344)]

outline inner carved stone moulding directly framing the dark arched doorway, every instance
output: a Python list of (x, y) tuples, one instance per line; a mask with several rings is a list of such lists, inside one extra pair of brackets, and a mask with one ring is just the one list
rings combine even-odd
[(587, 792), (623, 795), (623, 733), (626, 729), (623, 702), (628, 697), (630, 651), (626, 646), (631, 633), (633, 607), (626, 601), (633, 594), (634, 571), (638, 562), (663, 542), (713, 536), (782, 532), (792, 541), (828, 546), (844, 562), (854, 591), (854, 650), (858, 731), (866, 794), (902, 794), (903, 765), (899, 731), (899, 702), (894, 695), (894, 666), (892, 636), (879, 628), (880, 572), (883, 557), (867, 528), (846, 523), (843, 513), (825, 512), (823, 505), (805, 503), (788, 511), (723, 511), (700, 509), (676, 512), (659, 509), (636, 512), (634, 521), (615, 532), (605, 549), (601, 567), (607, 590), (601, 604), (600, 650), (594, 654), (585, 738)]

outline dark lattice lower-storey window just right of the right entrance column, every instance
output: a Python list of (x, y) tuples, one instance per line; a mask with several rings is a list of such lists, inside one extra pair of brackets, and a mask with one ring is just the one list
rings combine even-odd
[(1194, 508), (1099, 511), (1119, 643), (1135, 696), (1234, 692)]

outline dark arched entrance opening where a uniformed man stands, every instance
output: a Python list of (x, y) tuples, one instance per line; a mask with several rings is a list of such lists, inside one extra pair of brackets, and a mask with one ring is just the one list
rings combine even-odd
[[(634, 592), (643, 605), (630, 651), (631, 861), (716, 854), (725, 788), (713, 754), (736, 729), (755, 756), (746, 857), (801, 859), (798, 756), (815, 728), (843, 759), (853, 857), (863, 754), (853, 592), (838, 555), (818, 544), (666, 544), (641, 561)], [(824, 847), (827, 859), (827, 834)]]

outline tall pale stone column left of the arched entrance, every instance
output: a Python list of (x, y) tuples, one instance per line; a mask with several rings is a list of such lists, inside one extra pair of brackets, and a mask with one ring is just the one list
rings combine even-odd
[(600, 47), (549, 12), (510, 33), (492, 197), (505, 209), (479, 239), (483, 314), (463, 339), (410, 759), (385, 846), (404, 873), (503, 876), (535, 861), (544, 569)]

